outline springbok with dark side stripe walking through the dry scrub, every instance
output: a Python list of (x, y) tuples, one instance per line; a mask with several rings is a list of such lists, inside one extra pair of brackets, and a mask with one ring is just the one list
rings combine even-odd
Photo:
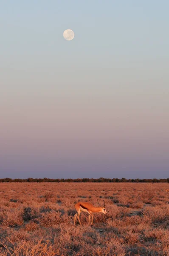
[[(104, 200), (103, 200), (104, 201)], [(93, 212), (103, 212), (104, 214), (106, 214), (106, 209), (105, 209), (105, 203), (103, 205), (103, 207), (94, 207), (93, 204), (87, 203), (87, 202), (79, 202), (77, 204), (75, 204), (75, 209), (77, 211), (77, 213), (74, 215), (74, 226), (75, 226), (75, 222), (76, 222), (76, 217), (79, 220), (80, 225), (82, 225), (82, 223), (80, 222), (80, 213), (81, 212), (87, 212), (89, 214), (89, 225), (93, 224)], [(92, 221), (90, 224), (90, 216), (92, 216)]]

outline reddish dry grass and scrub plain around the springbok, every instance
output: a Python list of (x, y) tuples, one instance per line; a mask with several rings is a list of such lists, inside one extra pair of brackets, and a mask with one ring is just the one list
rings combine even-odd
[[(0, 184), (0, 256), (169, 256), (169, 184)], [(93, 226), (74, 204), (90, 201)]]

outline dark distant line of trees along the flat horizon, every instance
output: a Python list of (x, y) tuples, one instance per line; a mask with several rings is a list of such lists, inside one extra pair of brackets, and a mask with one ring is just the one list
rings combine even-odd
[(62, 183), (62, 182), (136, 182), (136, 183), (143, 183), (143, 182), (148, 182), (148, 183), (159, 183), (159, 182), (168, 182), (169, 183), (169, 178), (167, 179), (126, 179), (126, 178), (99, 178), (99, 179), (89, 179), (89, 178), (83, 178), (83, 179), (49, 179), (49, 178), (28, 178), (28, 179), (11, 179), (11, 178), (0, 178), (0, 183), (14, 183), (14, 182), (28, 182), (28, 183), (41, 183), (41, 182), (56, 182), (56, 183)]

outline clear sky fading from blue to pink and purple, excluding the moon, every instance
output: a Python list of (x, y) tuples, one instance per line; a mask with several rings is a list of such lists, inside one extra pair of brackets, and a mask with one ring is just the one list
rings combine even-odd
[(1, 0), (0, 177), (169, 177), (168, 10)]

